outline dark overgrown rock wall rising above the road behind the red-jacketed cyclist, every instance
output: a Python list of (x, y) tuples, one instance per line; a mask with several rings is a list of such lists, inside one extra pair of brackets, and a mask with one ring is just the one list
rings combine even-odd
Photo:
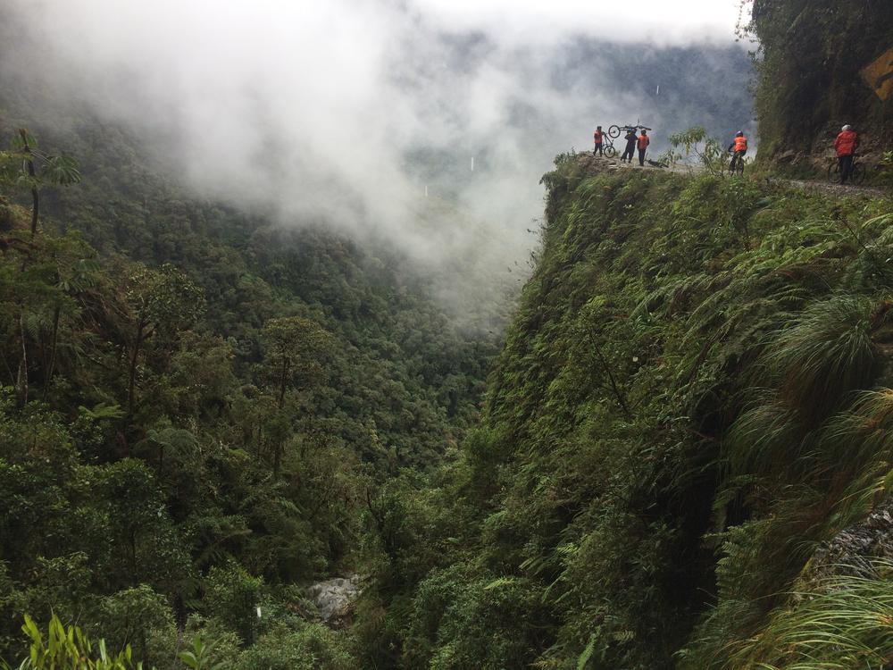
[(821, 162), (845, 123), (869, 160), (893, 149), (893, 3), (756, 0), (753, 17), (763, 155)]

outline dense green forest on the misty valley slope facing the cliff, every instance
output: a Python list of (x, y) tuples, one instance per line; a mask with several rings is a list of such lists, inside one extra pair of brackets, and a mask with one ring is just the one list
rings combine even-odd
[(212, 664), (350, 666), (296, 585), (357, 569), (384, 482), (455, 453), (499, 336), (380, 241), (189, 199), (129, 138), (72, 127), (41, 139), (80, 188), (44, 192), (80, 172), (30, 136), (0, 154), (0, 607), (146, 667), (184, 626)]

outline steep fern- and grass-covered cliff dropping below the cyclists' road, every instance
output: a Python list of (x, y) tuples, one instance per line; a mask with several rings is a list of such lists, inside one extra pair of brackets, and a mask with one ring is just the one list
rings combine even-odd
[(463, 461), (380, 503), (391, 607), (365, 653), (880, 666), (889, 200), (596, 165), (544, 178), (544, 248)]

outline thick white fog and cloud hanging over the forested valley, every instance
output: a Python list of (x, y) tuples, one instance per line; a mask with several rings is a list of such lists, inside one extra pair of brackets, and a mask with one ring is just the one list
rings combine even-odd
[[(126, 124), (201, 195), (283, 225), (374, 232), (432, 267), (504, 272), (535, 242), (539, 176), (556, 153), (590, 149), (596, 123), (641, 119), (659, 149), (717, 115), (731, 117), (723, 131), (750, 121), (738, 7), (0, 0), (0, 20), (29, 40), (7, 45), (4, 67)], [(682, 59), (693, 80), (623, 69), (680, 46), (722, 58)], [(706, 119), (687, 89), (705, 76), (720, 101)]]

